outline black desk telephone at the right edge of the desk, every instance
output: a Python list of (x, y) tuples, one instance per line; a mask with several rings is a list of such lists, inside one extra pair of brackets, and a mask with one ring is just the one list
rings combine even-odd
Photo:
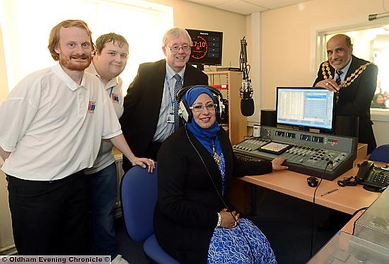
[(359, 184), (366, 190), (382, 192), (389, 185), (389, 169), (374, 166), (373, 161), (364, 161), (356, 174)]

